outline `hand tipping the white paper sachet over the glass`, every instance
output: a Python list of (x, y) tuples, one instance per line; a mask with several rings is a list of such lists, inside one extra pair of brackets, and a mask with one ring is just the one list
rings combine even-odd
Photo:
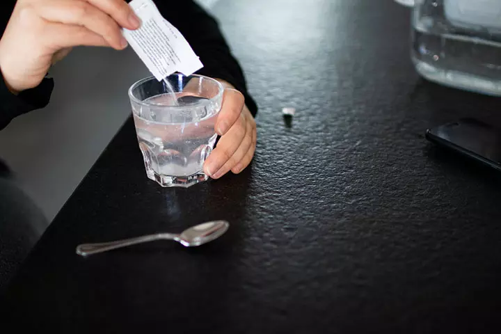
[(123, 0), (17, 0), (0, 40), (0, 70), (13, 93), (40, 84), (79, 45), (124, 49), (120, 27), (141, 23)]

